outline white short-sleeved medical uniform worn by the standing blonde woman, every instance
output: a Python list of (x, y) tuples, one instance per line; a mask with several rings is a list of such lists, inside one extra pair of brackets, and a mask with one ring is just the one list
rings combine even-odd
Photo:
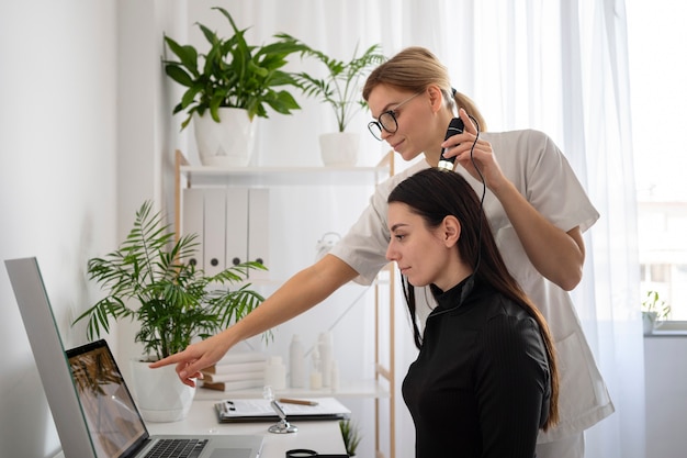
[[(484, 132), (481, 138), (492, 144), (506, 178), (556, 227), (567, 232), (579, 226), (584, 232), (598, 220), (598, 212), (589, 202), (570, 164), (549, 136), (526, 130)], [(360, 275), (356, 281), (371, 283), (387, 264), (385, 254), (390, 233), (386, 199), (390, 192), (399, 181), (427, 167), (427, 161), (421, 160), (380, 183), (358, 222), (331, 249), (333, 255)], [(482, 196), (482, 182), (469, 176), (460, 166), (458, 172)], [(541, 433), (538, 442), (549, 443), (581, 434), (610, 415), (615, 409), (570, 294), (542, 277), (532, 266), (500, 202), (488, 189), (484, 211), (506, 266), (543, 313), (555, 342), (561, 378), (561, 422), (549, 432)], [(430, 306), (420, 308), (418, 304), (421, 323)]]

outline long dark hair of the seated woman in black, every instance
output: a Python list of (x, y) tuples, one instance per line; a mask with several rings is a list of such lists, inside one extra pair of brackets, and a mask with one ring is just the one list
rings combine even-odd
[[(539, 324), (551, 370), (551, 404), (543, 429), (558, 423), (559, 373), (553, 338), (541, 312), (508, 271), (474, 189), (459, 174), (429, 168), (399, 182), (388, 196), (387, 202), (405, 203), (430, 228), (438, 227), (448, 215), (460, 221), (458, 250), (463, 261), (476, 267), (473, 272), (475, 279), (514, 301)], [(402, 284), (410, 312), (415, 344), (419, 348), (421, 336), (415, 319), (415, 288), (403, 276)]]

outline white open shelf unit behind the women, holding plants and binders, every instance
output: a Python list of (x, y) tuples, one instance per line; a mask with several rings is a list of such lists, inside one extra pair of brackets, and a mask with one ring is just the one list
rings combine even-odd
[[(374, 167), (236, 167), (218, 168), (189, 165), (180, 150), (176, 152), (174, 230), (181, 234), (182, 189), (184, 187), (289, 187), (312, 186), (370, 186), (376, 185), (394, 174), (394, 153), (388, 154)], [(283, 279), (285, 280), (285, 278)], [(267, 283), (281, 283), (271, 280)], [(336, 396), (374, 399), (374, 447), (376, 458), (384, 458), (381, 444), (380, 418), (382, 400), (388, 402), (388, 455), (395, 458), (395, 380), (394, 380), (394, 267), (383, 269), (374, 289), (374, 379), (342, 382), (336, 392), (328, 389), (286, 389), (278, 392), (281, 396)], [(260, 398), (260, 389), (232, 392), (199, 389), (196, 399)]]

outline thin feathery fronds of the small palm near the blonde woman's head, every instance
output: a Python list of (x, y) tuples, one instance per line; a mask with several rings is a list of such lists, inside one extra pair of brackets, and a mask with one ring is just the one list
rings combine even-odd
[(374, 67), (386, 60), (386, 57), (380, 53), (381, 45), (370, 46), (358, 57), (356, 57), (358, 54), (358, 46), (356, 46), (351, 59), (344, 62), (331, 58), (322, 51), (313, 49), (291, 35), (278, 34), (275, 36), (304, 46), (302, 55), (315, 57), (326, 66), (327, 75), (324, 78), (316, 78), (304, 71), (293, 74), (293, 77), (305, 96), (317, 97), (322, 102), (331, 105), (336, 114), (338, 131), (346, 131), (352, 116), (359, 110), (367, 108), (360, 93), (361, 82)]

